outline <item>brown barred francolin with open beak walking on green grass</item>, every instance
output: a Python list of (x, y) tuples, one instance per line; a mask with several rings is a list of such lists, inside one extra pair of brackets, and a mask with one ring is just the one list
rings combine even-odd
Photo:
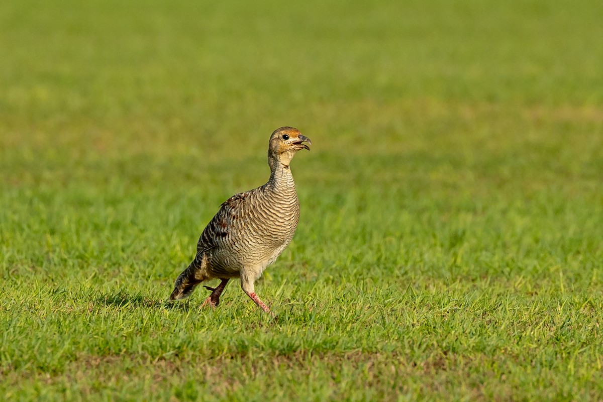
[(197, 254), (174, 284), (170, 300), (191, 295), (198, 284), (218, 278), (202, 306), (217, 307), (230, 279), (239, 278), (241, 288), (257, 306), (274, 316), (260, 300), (254, 282), (285, 250), (300, 219), (300, 204), (289, 164), (312, 141), (297, 128), (280, 127), (268, 142), (270, 178), (263, 186), (238, 193), (224, 201), (204, 228)]

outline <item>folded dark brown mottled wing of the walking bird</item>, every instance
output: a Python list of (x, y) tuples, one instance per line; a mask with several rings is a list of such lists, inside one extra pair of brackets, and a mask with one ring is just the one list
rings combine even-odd
[(249, 191), (238, 193), (222, 203), (216, 215), (213, 216), (203, 233), (201, 233), (197, 244), (197, 254), (218, 247), (222, 242), (221, 240), (227, 236), (236, 236), (238, 225), (235, 225), (235, 222), (244, 219), (245, 204), (248, 204), (249, 195)]

